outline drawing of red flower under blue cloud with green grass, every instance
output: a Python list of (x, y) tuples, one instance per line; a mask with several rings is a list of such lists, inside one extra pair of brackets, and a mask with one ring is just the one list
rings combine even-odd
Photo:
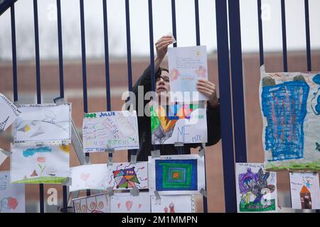
[(69, 177), (70, 145), (11, 144), (11, 182), (61, 184)]

